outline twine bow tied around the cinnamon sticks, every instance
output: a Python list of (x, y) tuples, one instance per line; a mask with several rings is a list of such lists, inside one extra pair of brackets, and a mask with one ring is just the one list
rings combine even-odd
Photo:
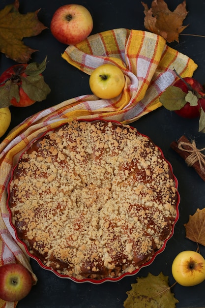
[[(192, 149), (190, 150), (188, 150), (187, 148), (185, 149), (184, 146), (189, 146)], [(205, 173), (205, 154), (202, 153), (202, 151), (204, 151), (205, 148), (197, 149), (195, 140), (193, 140), (191, 143), (181, 141), (178, 144), (178, 148), (181, 151), (186, 151), (190, 153), (185, 159), (185, 162), (187, 163), (188, 166), (192, 166), (195, 162), (198, 161), (202, 173)]]

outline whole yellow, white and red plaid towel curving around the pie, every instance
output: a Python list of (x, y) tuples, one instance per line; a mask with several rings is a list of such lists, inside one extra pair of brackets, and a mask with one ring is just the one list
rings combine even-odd
[[(197, 68), (190, 58), (168, 47), (161, 36), (127, 29), (91, 35), (76, 46), (68, 46), (62, 57), (87, 74), (98, 65), (113, 63), (124, 72), (126, 83), (121, 95), (112, 100), (88, 94), (40, 111), (16, 126), (0, 144), (0, 265), (22, 263), (32, 274), (34, 284), (37, 277), (24, 246), (16, 240), (6, 206), (11, 171), (21, 153), (46, 130), (73, 119), (131, 123), (161, 106), (160, 94), (176, 80), (173, 68), (182, 77), (191, 77)], [(16, 305), (0, 300), (0, 308)]]

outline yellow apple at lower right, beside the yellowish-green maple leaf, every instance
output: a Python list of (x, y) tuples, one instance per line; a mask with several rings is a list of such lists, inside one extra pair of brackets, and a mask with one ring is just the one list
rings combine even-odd
[(192, 250), (177, 254), (172, 264), (172, 275), (183, 286), (193, 286), (205, 280), (205, 259)]

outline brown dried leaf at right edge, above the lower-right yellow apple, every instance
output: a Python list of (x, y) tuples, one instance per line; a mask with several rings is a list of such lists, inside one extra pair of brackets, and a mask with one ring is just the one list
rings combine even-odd
[(187, 239), (205, 246), (205, 208), (197, 209), (193, 216), (189, 216), (189, 221), (184, 226)]

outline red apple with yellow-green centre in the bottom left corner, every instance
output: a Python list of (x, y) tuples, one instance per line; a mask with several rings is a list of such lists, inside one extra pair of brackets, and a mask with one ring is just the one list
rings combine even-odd
[(32, 287), (32, 277), (21, 264), (0, 266), (0, 299), (17, 302), (26, 297)]

